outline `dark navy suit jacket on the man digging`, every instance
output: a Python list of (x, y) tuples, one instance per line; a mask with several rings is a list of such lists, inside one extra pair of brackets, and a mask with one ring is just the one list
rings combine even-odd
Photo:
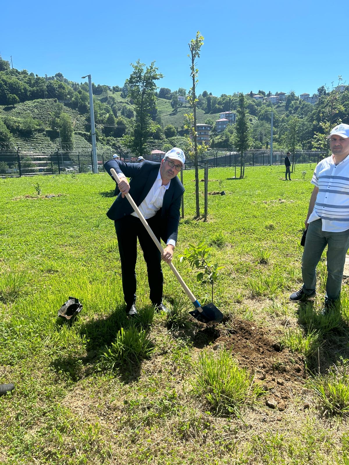
[[(110, 174), (114, 168), (116, 173), (124, 173), (130, 179), (130, 195), (137, 206), (140, 206), (153, 186), (160, 169), (160, 163), (145, 160), (142, 163), (125, 163), (121, 160), (109, 160), (104, 164)], [(111, 174), (110, 174), (111, 176)], [(169, 188), (165, 191), (162, 208), (157, 214), (161, 215), (161, 239), (167, 243), (168, 239), (177, 240), (180, 217), (181, 197), (184, 187), (176, 176), (171, 179)], [(110, 219), (121, 219), (133, 213), (133, 208), (126, 197), (121, 193), (107, 211)]]

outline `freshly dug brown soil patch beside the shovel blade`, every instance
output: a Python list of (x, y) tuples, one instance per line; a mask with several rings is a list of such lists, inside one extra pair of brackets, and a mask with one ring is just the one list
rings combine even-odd
[(229, 328), (219, 332), (207, 328), (197, 333), (197, 348), (206, 333), (213, 350), (225, 347), (241, 366), (253, 373), (254, 382), (265, 391), (265, 403), (269, 408), (280, 411), (288, 407), (294, 393), (302, 390), (306, 373), (302, 357), (292, 354), (288, 349), (280, 349), (275, 340), (268, 337), (270, 330), (259, 328), (255, 322), (235, 320)]

